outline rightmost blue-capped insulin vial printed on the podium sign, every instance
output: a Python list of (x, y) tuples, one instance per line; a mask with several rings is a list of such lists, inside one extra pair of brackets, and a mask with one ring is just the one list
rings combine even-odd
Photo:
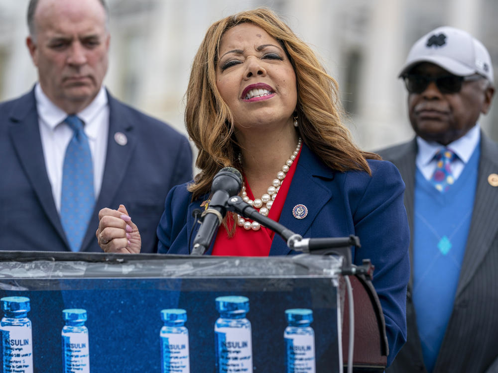
[(283, 333), (286, 373), (315, 373), (315, 333), (310, 327), (313, 311), (304, 308), (285, 310), (288, 326)]

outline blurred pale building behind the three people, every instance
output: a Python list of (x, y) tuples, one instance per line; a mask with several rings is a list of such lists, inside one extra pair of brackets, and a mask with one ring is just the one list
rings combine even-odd
[[(0, 0), (0, 100), (36, 81), (25, 37), (28, 0)], [(441, 25), (465, 29), (498, 70), (497, 0), (108, 0), (111, 52), (106, 86), (184, 132), (183, 95), (208, 26), (267, 6), (308, 42), (337, 79), (348, 124), (366, 150), (412, 137), (398, 72), (410, 46)], [(497, 74), (496, 74), (497, 75)], [(496, 79), (498, 82), (498, 79)], [(498, 140), (498, 103), (481, 125)]]

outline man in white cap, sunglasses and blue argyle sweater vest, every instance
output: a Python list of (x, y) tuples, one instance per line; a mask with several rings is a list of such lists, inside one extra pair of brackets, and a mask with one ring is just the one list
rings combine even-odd
[(407, 342), (387, 372), (497, 372), (498, 145), (479, 127), (491, 58), (440, 27), (413, 45), (400, 78), (416, 137), (379, 154), (406, 184), (411, 277)]

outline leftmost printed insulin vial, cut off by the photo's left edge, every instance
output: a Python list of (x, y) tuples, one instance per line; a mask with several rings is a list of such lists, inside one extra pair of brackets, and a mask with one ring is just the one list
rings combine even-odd
[(7, 296), (0, 299), (3, 318), (0, 321), (3, 373), (33, 372), (33, 338), (29, 298)]

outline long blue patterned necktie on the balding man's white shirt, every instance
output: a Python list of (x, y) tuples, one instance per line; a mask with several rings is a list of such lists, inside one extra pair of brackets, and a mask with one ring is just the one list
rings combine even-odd
[(92, 153), (81, 119), (69, 115), (64, 121), (74, 134), (62, 169), (61, 222), (71, 250), (79, 251), (95, 203)]

